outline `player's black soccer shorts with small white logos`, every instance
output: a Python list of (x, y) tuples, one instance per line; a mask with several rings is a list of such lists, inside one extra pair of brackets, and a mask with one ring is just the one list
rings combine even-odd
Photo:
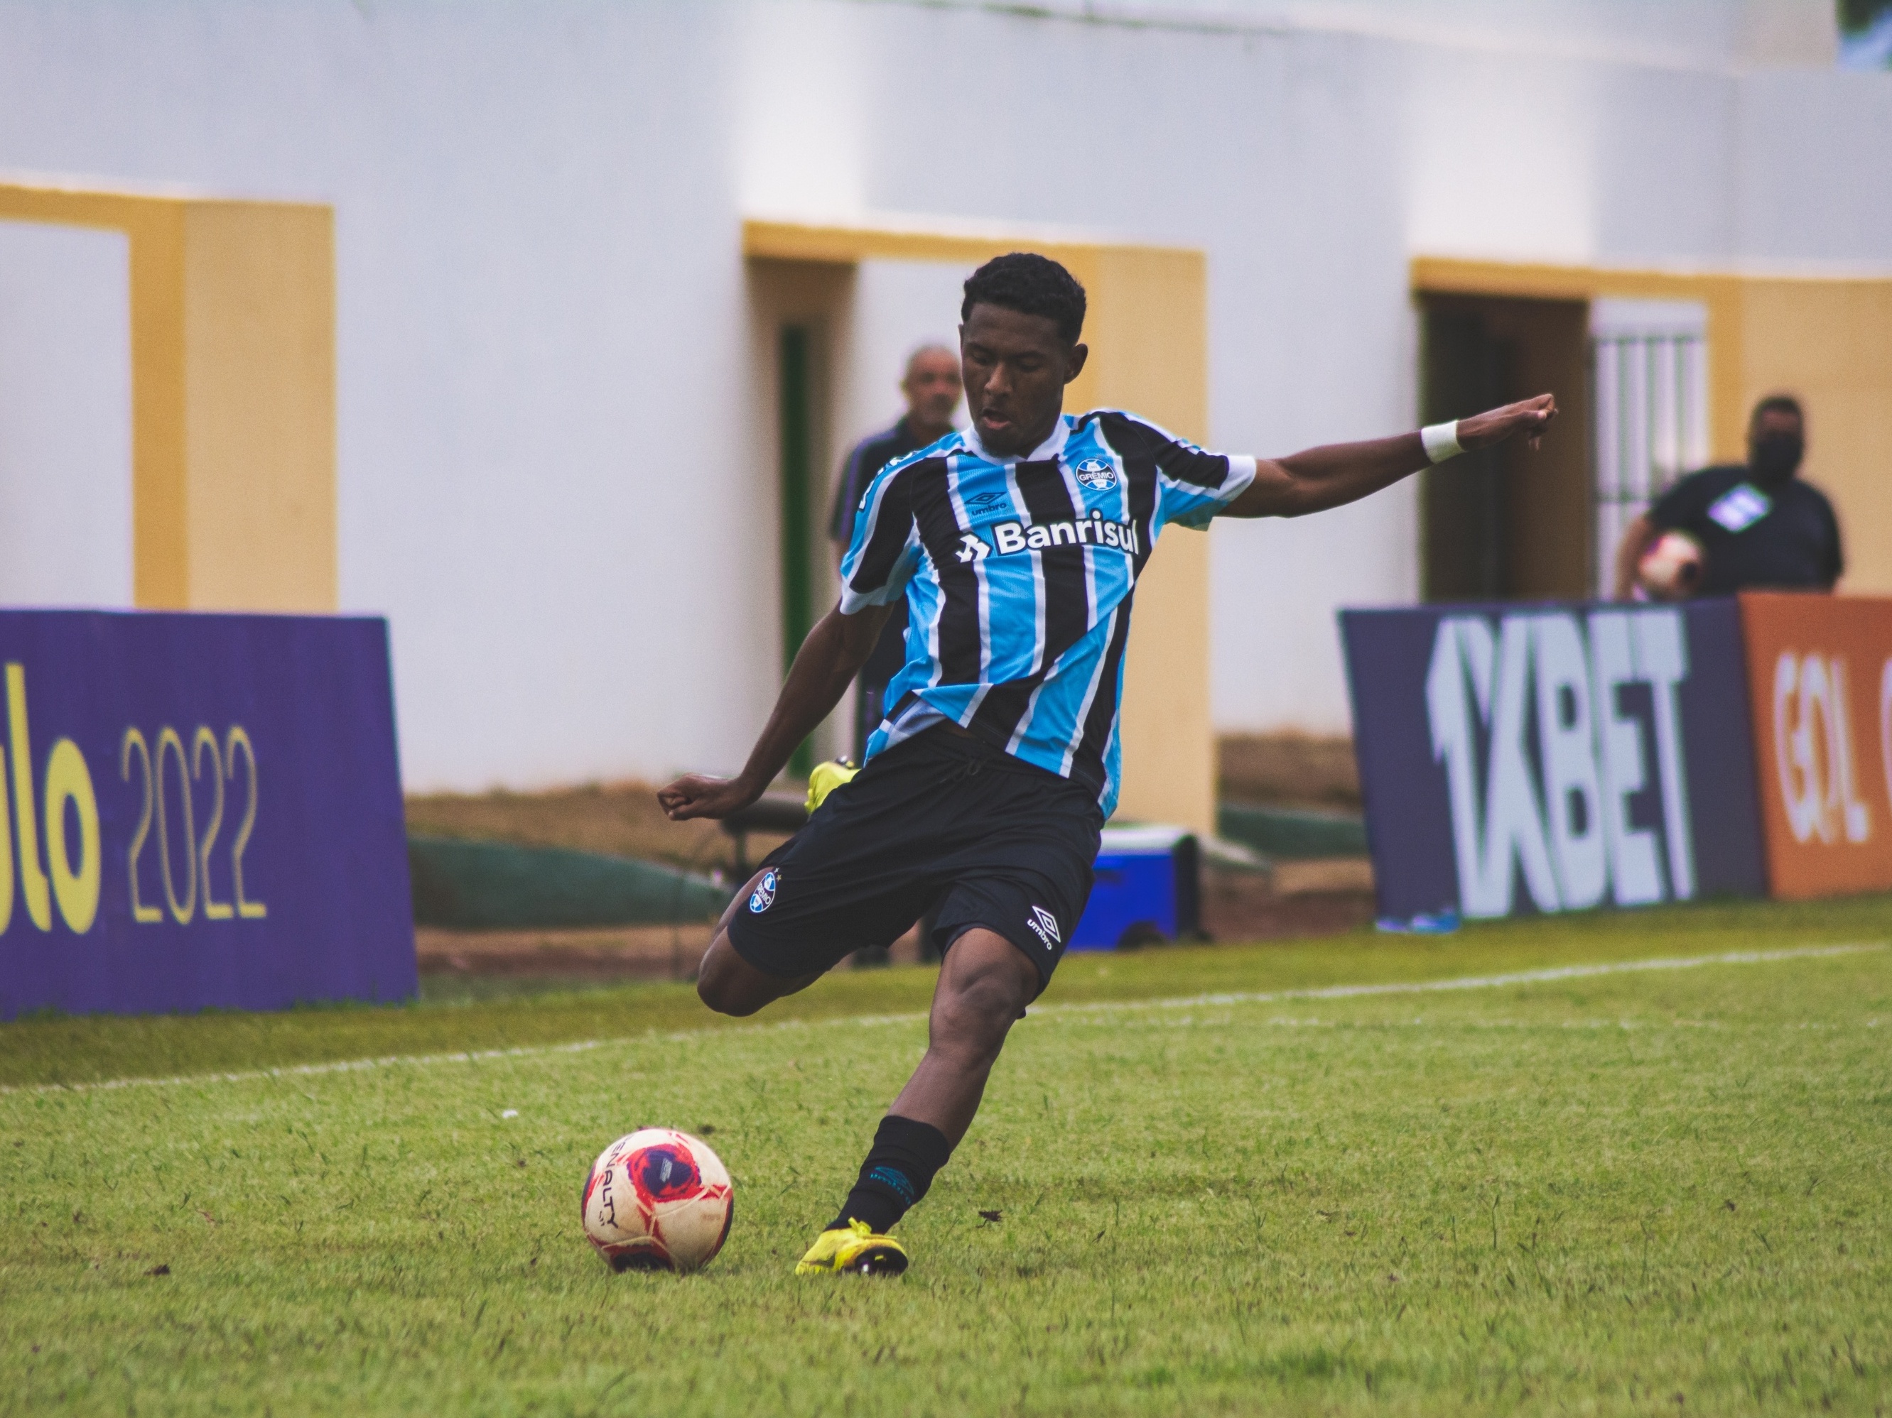
[(762, 858), (728, 940), (793, 979), (891, 943), (937, 906), (940, 951), (986, 926), (1044, 989), (1090, 898), (1101, 832), (1082, 785), (935, 726), (870, 758)]

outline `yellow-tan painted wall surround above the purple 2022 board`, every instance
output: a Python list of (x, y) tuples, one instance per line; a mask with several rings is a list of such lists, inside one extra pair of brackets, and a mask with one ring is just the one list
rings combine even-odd
[(132, 601), (333, 611), (331, 210), (0, 183), (0, 221), (129, 238)]

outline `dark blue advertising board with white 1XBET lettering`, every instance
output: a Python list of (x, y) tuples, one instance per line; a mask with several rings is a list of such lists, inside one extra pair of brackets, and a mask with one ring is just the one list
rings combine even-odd
[(1345, 611), (1341, 635), (1383, 915), (1765, 889), (1735, 601)]

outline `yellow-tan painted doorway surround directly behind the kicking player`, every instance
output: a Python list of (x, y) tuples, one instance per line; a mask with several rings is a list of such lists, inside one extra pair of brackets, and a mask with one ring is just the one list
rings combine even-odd
[[(1133, 408), (1188, 439), (1209, 424), (1209, 263), (1201, 251), (1065, 236), (745, 221), (759, 261), (976, 267), (1031, 250), (1061, 261), (1090, 295), (1090, 363), (1067, 408)], [(1209, 539), (1175, 529), (1137, 582), (1122, 705), (1118, 815), (1215, 832), (1209, 715)]]

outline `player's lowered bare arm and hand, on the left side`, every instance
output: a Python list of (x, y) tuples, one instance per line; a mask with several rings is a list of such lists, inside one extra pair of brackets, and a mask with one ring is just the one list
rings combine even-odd
[(789, 762), (795, 745), (814, 734), (840, 703), (840, 696), (874, 652), (880, 630), (891, 613), (891, 605), (868, 605), (850, 616), (836, 605), (821, 616), (802, 641), (802, 648), (795, 652), (789, 679), (776, 698), (776, 711), (762, 726), (749, 762), (736, 777), (685, 773), (658, 790), (657, 802), (670, 821), (728, 817), (761, 798), (762, 788), (774, 783), (776, 773)]

